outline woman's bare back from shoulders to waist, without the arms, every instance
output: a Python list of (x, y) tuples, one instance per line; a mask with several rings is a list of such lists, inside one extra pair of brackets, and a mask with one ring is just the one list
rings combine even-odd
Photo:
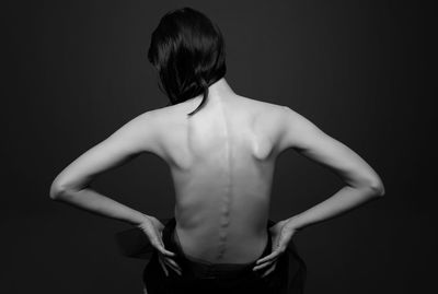
[[(162, 108), (162, 157), (175, 186), (176, 234), (186, 255), (215, 263), (257, 259), (266, 223), (279, 106), (239, 95)], [(278, 131), (277, 131), (278, 132)]]

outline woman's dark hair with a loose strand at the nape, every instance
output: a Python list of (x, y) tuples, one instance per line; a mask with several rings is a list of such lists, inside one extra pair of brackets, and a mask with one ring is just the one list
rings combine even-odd
[(160, 90), (171, 104), (204, 93), (194, 115), (205, 104), (208, 87), (227, 73), (224, 42), (219, 27), (192, 8), (168, 12), (153, 31), (148, 60), (158, 70)]

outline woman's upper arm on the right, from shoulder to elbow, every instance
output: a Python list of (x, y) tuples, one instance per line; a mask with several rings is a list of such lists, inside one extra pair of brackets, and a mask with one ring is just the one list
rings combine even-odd
[(284, 149), (292, 148), (306, 157), (328, 167), (350, 186), (383, 190), (379, 175), (364, 158), (289, 107), (285, 107), (281, 127)]

